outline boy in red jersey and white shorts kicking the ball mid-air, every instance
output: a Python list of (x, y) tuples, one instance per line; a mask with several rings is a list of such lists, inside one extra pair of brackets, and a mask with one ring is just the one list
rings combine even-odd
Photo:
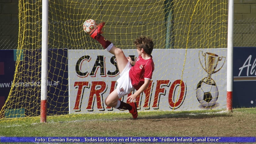
[[(138, 59), (135, 62), (131, 60), (131, 57), (126, 57), (121, 49), (115, 47), (113, 43), (101, 35), (103, 33), (101, 29), (104, 25), (105, 22), (97, 25), (90, 32), (90, 37), (96, 39), (104, 49), (115, 55), (120, 74), (120, 78), (117, 80), (117, 88), (108, 95), (105, 104), (116, 109), (127, 109), (132, 117), (136, 119), (138, 117), (136, 98), (148, 87), (155, 68), (151, 55), (154, 47), (153, 41), (142, 36), (135, 40), (134, 44), (138, 52)], [(134, 89), (136, 89), (136, 92), (127, 98), (131, 103), (119, 100)]]

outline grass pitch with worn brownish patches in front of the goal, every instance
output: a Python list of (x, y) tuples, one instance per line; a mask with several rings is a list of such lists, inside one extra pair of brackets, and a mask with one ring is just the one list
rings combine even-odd
[(0, 119), (0, 136), (15, 137), (244, 137), (256, 136), (256, 108), (183, 112), (127, 112)]

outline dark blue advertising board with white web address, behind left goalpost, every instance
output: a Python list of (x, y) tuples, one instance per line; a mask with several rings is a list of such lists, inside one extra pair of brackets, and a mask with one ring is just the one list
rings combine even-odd
[[(16, 63), (17, 50), (0, 52), (0, 109), (7, 102), (5, 118), (40, 115), (41, 49), (21, 53), (22, 59)], [(47, 115), (68, 113), (67, 63), (67, 49), (48, 50)], [(13, 80), (15, 64), (19, 73)], [(12, 85), (12, 96), (6, 101)]]

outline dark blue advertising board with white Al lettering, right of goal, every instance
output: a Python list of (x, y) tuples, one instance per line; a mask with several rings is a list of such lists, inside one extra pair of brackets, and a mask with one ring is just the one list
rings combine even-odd
[(256, 107), (256, 47), (234, 47), (233, 107)]

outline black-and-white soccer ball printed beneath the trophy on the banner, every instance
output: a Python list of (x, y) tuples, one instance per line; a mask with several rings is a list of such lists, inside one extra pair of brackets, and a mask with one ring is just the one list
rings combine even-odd
[(204, 107), (211, 107), (216, 105), (218, 95), (219, 91), (215, 82), (207, 84), (201, 80), (197, 84), (196, 98), (198, 102)]

